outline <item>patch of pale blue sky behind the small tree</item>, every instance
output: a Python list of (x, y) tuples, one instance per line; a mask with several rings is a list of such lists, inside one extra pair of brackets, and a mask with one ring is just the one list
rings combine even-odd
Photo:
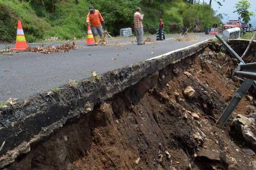
[[(200, 2), (203, 0), (200, 0)], [(233, 13), (233, 11), (236, 10), (235, 5), (236, 3), (239, 2), (239, 0), (225, 0), (225, 2), (223, 2), (223, 0), (219, 0), (223, 6), (218, 6), (218, 3), (216, 3), (215, 0), (212, 0), (212, 8), (217, 11), (218, 13), (225, 13), (228, 14), (228, 17), (224, 17), (223, 22), (226, 23), (227, 20), (237, 20), (239, 15), (236, 13)], [(250, 11), (253, 11), (254, 14), (256, 15), (256, 0), (248, 0), (251, 4), (251, 8)], [(209, 0), (204, 0), (204, 2), (209, 3)], [(220, 7), (220, 8), (219, 8)], [(253, 26), (256, 26), (256, 16), (251, 17), (250, 23)]]

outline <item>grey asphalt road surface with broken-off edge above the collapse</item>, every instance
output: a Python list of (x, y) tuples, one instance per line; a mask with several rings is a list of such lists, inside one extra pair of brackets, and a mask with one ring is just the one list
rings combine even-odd
[[(102, 74), (213, 37), (204, 34), (197, 36), (199, 41), (177, 42), (173, 39), (177, 35), (170, 35), (166, 36), (165, 41), (146, 45), (136, 45), (132, 42), (133, 38), (119, 40), (124, 43), (121, 46), (87, 46), (83, 41), (77, 41), (79, 48), (66, 53), (18, 52), (0, 55), (0, 102), (9, 98), (25, 99), (32, 94), (64, 85), (69, 79), (91, 77), (92, 71)], [(3, 47), (0, 45), (0, 49)]]

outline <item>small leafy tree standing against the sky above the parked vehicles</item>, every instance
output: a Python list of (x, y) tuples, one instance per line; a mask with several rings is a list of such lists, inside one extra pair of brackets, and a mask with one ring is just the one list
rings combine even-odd
[(236, 3), (236, 11), (233, 11), (233, 13), (237, 13), (243, 18), (244, 23), (248, 23), (250, 21), (250, 17), (254, 16), (254, 13), (249, 11), (251, 4), (248, 2), (248, 0), (240, 0), (238, 3)]

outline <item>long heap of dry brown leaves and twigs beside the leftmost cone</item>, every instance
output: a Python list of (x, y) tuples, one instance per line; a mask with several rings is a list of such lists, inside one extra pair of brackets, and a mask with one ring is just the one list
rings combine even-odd
[(43, 53), (43, 54), (50, 54), (50, 53), (59, 53), (59, 52), (67, 52), (71, 49), (76, 49), (77, 45), (75, 42), (70, 44), (69, 42), (62, 44), (60, 46), (52, 46), (49, 45), (47, 47), (44, 47), (44, 45), (40, 45), (38, 47), (31, 47), (29, 46), (26, 51), (29, 52), (38, 52), (38, 53)]

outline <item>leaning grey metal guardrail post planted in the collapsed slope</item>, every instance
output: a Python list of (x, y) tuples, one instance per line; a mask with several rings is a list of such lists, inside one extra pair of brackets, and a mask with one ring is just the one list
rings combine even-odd
[(225, 123), (232, 115), (233, 111), (236, 109), (236, 106), (239, 104), (240, 100), (244, 97), (246, 92), (249, 90), (250, 86), (253, 84), (252, 79), (245, 79), (244, 82), (239, 87), (239, 90), (236, 92), (233, 99), (230, 101), (227, 108), (221, 114), (221, 117), (218, 119), (217, 123), (221, 128), (224, 127)]

